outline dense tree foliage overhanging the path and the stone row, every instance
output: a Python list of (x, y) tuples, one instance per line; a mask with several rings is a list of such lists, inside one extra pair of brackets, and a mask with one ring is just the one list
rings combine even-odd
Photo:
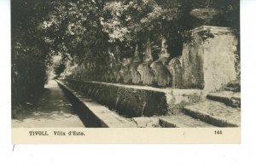
[[(235, 0), (13, 0), (11, 6), (14, 102), (39, 94), (48, 69), (60, 75), (67, 66), (104, 65), (109, 56), (131, 57), (136, 44), (142, 58), (148, 39), (154, 59), (162, 37), (170, 58), (180, 55), (182, 33), (194, 24), (191, 9), (221, 9), (216, 26), (239, 31)], [(58, 64), (52, 59), (56, 55)]]

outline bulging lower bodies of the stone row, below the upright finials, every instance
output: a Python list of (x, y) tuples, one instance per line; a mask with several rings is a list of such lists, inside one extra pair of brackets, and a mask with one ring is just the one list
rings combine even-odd
[(138, 63), (134, 62), (132, 58), (127, 58), (123, 59), (122, 63), (93, 71), (79, 67), (71, 77), (108, 83), (131, 83), (177, 88), (181, 85), (181, 72), (179, 57), (173, 58), (169, 63), (162, 60)]

